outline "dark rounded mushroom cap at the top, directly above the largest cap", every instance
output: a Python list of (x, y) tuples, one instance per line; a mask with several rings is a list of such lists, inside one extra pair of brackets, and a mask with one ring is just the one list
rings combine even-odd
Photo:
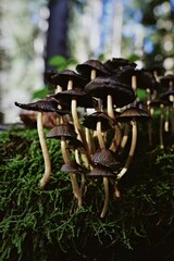
[(99, 60), (90, 59), (84, 63), (77, 64), (76, 66), (76, 71), (88, 80), (90, 80), (91, 70), (97, 71), (97, 76), (108, 74), (108, 71), (105, 70), (104, 65)]

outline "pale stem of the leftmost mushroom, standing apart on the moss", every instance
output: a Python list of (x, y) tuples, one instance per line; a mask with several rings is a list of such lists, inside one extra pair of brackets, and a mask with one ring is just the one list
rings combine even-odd
[(39, 142), (41, 146), (41, 151), (42, 151), (44, 161), (45, 161), (45, 173), (42, 178), (39, 182), (39, 186), (44, 188), (46, 184), (50, 181), (51, 161), (50, 161), (49, 151), (48, 151), (48, 147), (45, 139), (45, 134), (44, 134), (42, 112), (37, 113), (37, 132), (38, 132)]

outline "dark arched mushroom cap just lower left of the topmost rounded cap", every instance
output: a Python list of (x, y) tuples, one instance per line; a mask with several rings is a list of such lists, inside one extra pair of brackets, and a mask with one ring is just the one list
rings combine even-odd
[(53, 83), (60, 85), (63, 89), (67, 88), (70, 79), (73, 80), (73, 86), (75, 88), (83, 88), (87, 84), (87, 80), (83, 78), (82, 75), (72, 70), (65, 70), (52, 77)]

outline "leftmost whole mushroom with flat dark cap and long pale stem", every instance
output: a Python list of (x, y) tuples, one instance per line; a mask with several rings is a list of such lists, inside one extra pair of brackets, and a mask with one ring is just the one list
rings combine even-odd
[(37, 111), (37, 132), (38, 132), (39, 142), (41, 146), (41, 151), (42, 151), (44, 161), (45, 161), (45, 173), (42, 178), (39, 182), (39, 186), (41, 188), (46, 186), (51, 175), (51, 161), (48, 152), (48, 147), (45, 140), (42, 113), (44, 112), (57, 112), (59, 114), (66, 113), (66, 111), (59, 110), (58, 104), (59, 102), (51, 99), (50, 97), (48, 97), (47, 99), (38, 100), (36, 102), (32, 102), (27, 104), (15, 102), (15, 105), (20, 107), (21, 109)]

